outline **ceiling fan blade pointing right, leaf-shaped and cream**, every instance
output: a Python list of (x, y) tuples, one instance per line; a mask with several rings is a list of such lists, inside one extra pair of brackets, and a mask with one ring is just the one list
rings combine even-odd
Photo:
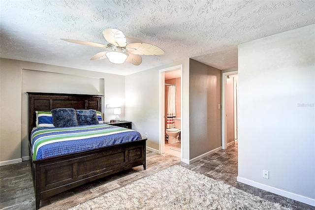
[(131, 43), (126, 46), (126, 50), (136, 55), (155, 56), (164, 54), (161, 48), (148, 43)]

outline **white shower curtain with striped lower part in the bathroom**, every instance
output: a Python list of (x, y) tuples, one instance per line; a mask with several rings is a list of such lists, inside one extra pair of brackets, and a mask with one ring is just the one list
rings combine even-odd
[(176, 97), (176, 86), (168, 86), (167, 89), (167, 121), (166, 128), (175, 127), (175, 97)]

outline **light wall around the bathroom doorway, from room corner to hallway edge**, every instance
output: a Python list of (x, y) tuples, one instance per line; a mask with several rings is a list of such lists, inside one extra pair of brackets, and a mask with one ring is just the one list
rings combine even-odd
[[(126, 76), (126, 120), (133, 122), (133, 128), (142, 135), (148, 133), (147, 146), (159, 150), (160, 140), (160, 81), (162, 69), (183, 65), (183, 116), (182, 144), (183, 161), (189, 162), (189, 59), (141, 71)], [(163, 104), (164, 105), (164, 104)], [(164, 140), (164, 139), (163, 139)]]

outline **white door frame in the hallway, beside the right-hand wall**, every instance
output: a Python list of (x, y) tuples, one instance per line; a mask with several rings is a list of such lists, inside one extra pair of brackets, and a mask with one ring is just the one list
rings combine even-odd
[(222, 106), (221, 106), (221, 135), (222, 135), (222, 149), (225, 150), (226, 149), (226, 118), (225, 118), (225, 81), (226, 81), (226, 76), (227, 75), (232, 75), (232, 74), (238, 74), (238, 71), (230, 71), (230, 72), (224, 72), (222, 73)]

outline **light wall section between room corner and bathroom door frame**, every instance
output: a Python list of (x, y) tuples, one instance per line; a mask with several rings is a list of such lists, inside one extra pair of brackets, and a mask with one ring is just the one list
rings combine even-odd
[(126, 120), (142, 136), (148, 133), (147, 147), (158, 150), (158, 69), (126, 76)]

